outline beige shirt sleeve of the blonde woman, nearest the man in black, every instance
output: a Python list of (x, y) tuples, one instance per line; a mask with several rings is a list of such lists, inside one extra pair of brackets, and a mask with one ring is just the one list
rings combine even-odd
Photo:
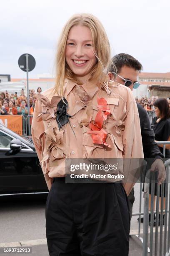
[(138, 108), (131, 92), (129, 92), (129, 96), (131, 100), (127, 104), (127, 115), (124, 120), (125, 129), (122, 131), (123, 158), (126, 159), (124, 188), (127, 195), (130, 194), (140, 176), (140, 160), (144, 157)]

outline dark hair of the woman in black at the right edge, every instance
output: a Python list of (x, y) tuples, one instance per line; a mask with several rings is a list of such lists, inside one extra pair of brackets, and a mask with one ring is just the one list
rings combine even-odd
[(158, 98), (155, 100), (153, 105), (160, 110), (160, 115), (163, 119), (168, 119), (170, 118), (170, 109), (169, 109), (169, 104), (168, 100), (165, 98)]

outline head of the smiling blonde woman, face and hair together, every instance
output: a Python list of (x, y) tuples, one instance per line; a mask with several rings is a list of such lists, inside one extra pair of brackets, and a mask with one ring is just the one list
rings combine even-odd
[[(87, 62), (87, 64), (82, 65), (81, 72), (77, 70), (78, 73), (80, 72), (78, 76), (75, 76), (74, 71), (69, 67), (73, 61), (75, 64), (76, 61)], [(75, 15), (67, 21), (59, 38), (55, 63), (55, 92), (58, 91), (61, 95), (63, 94), (65, 78), (83, 84), (79, 77), (87, 75), (89, 81), (105, 82), (103, 70), (111, 64), (110, 44), (105, 29), (96, 17), (93, 15)], [(77, 65), (80, 64), (77, 63)], [(76, 66), (72, 64), (71, 67)], [(87, 72), (89, 73), (87, 74)]]

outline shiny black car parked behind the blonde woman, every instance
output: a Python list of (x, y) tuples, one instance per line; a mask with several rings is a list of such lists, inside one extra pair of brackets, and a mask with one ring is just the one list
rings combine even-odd
[(0, 124), (0, 197), (47, 193), (31, 139)]

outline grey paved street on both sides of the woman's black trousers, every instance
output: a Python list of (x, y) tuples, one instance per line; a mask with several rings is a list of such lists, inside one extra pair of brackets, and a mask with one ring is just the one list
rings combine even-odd
[[(140, 184), (136, 184), (133, 212), (138, 212), (139, 210), (139, 191)], [(32, 255), (47, 256), (45, 203), (45, 200), (13, 200), (1, 202), (0, 227), (3, 230), (3, 236), (0, 236), (0, 246), (2, 246), (2, 243), (14, 242), (13, 244), (9, 244), (9, 246), (31, 246)], [(130, 231), (132, 235), (138, 232), (137, 218), (137, 216), (132, 218)], [(143, 229), (143, 225), (141, 225), (141, 229)], [(130, 238), (130, 251), (129, 255), (142, 255), (141, 242), (135, 236), (131, 236)], [(6, 253), (5, 255), (7, 256)]]

